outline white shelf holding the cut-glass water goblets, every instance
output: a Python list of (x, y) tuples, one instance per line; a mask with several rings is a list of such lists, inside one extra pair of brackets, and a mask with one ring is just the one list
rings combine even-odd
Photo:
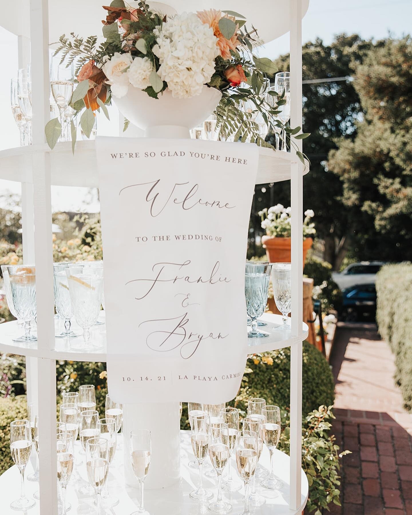
[[(100, 320), (104, 321), (104, 312), (100, 315)], [(264, 314), (260, 320), (268, 323), (265, 327), (260, 328), (263, 332), (269, 333), (265, 338), (247, 338), (248, 353), (267, 352), (284, 347), (290, 347), (295, 341), (302, 341), (307, 337), (308, 328), (302, 323), (302, 333), (298, 336), (292, 336), (290, 325), (287, 329), (282, 327), (281, 315)], [(56, 320), (56, 334), (63, 330), (63, 322)], [(17, 322), (4, 322), (0, 324), (0, 352), (8, 354), (18, 354), (22, 356), (42, 357), (49, 359), (65, 359), (68, 361), (94, 361), (106, 362), (106, 332), (105, 325), (95, 325), (92, 329), (91, 344), (96, 346), (90, 351), (76, 350), (74, 347), (81, 347), (83, 337), (77, 338), (56, 338), (54, 350), (39, 350), (37, 342), (30, 345), (23, 342), (15, 342), (12, 338), (21, 336), (22, 330), (18, 330)], [(72, 323), (72, 330), (81, 333), (81, 329)], [(36, 334), (36, 329), (32, 329), (32, 333)], [(113, 356), (112, 356), (113, 357)]]

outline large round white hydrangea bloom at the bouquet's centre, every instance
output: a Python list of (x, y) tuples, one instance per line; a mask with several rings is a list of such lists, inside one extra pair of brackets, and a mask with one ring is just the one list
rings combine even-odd
[(158, 74), (176, 98), (200, 95), (203, 84), (210, 81), (219, 55), (213, 29), (195, 13), (182, 13), (154, 30), (159, 57)]

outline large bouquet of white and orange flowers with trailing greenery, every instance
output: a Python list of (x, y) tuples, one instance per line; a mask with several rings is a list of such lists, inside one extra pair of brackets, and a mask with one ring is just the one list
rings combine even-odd
[[(291, 141), (309, 135), (298, 134), (301, 127), (291, 129), (276, 118), (277, 108), (286, 103), (284, 93), (267, 91), (273, 101), (266, 101), (268, 79), (277, 67), (270, 59), (255, 55), (258, 34), (254, 27), (246, 29), (242, 14), (210, 9), (167, 18), (150, 10), (144, 0), (136, 8), (123, 0), (103, 8), (107, 11), (102, 21), (105, 42), (98, 44), (96, 36), (83, 39), (71, 33), (68, 38), (60, 37), (55, 53), (61, 55), (61, 63), (76, 64), (78, 84), (70, 106), (75, 116), (82, 113), (80, 125), (88, 137), (94, 112), (101, 109), (109, 117), (106, 105), (112, 96), (125, 96), (129, 88), (153, 98), (167, 88), (175, 98), (188, 98), (199, 95), (203, 85), (222, 93), (215, 111), (221, 138), (234, 136), (235, 141), (271, 147), (250, 110), (243, 109), (246, 101), (252, 102), (254, 113), (263, 118), (268, 130), (286, 130)], [(53, 148), (61, 134), (59, 119), (50, 120), (45, 132)], [(72, 124), (73, 151), (75, 133)], [(303, 154), (297, 153), (304, 162)]]

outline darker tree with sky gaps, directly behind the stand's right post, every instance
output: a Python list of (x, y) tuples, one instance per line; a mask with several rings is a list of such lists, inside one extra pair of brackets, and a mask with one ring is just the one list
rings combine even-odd
[[(382, 45), (382, 42), (376, 45)], [(359, 96), (351, 76), (362, 63), (371, 41), (358, 35), (339, 35), (330, 45), (322, 40), (306, 43), (302, 48), (303, 80), (348, 77), (347, 80), (303, 84), (303, 131), (311, 136), (303, 140), (303, 152), (311, 160), (310, 174), (304, 178), (304, 209), (315, 211), (318, 236), (324, 241), (324, 258), (334, 268), (344, 258), (349, 244), (350, 207), (342, 200), (342, 182), (329, 171), (327, 156), (336, 148), (336, 141), (353, 141), (356, 121), (363, 115)], [(275, 61), (280, 71), (288, 70), (289, 56)], [(255, 203), (259, 209), (268, 203), (289, 205), (289, 183), (276, 183), (269, 195), (260, 190)], [(262, 207), (261, 207), (262, 205)]]

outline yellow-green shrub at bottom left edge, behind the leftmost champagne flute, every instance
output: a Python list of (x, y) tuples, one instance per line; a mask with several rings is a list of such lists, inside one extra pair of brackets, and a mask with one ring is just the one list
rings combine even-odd
[(26, 417), (26, 396), (0, 397), (0, 474), (13, 465), (10, 454), (10, 422)]

